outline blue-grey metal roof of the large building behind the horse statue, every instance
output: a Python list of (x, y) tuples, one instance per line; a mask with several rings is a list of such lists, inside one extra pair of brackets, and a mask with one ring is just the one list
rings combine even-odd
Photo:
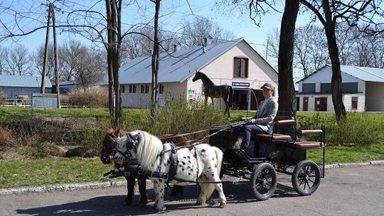
[[(225, 41), (203, 46), (177, 50), (174, 53), (161, 53), (159, 60), (159, 82), (183, 82), (188, 77), (201, 70), (220, 55), (243, 41), (239, 38), (234, 41)], [(119, 82), (122, 84), (151, 83), (152, 69), (151, 56), (134, 58), (119, 69)]]

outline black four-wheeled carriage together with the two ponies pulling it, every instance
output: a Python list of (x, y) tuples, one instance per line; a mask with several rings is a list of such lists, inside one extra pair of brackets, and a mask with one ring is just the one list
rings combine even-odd
[[(294, 134), (277, 133), (282, 127), (291, 127)], [(292, 130), (294, 129), (294, 130)], [(124, 175), (136, 178), (145, 175), (152, 179), (156, 194), (156, 210), (165, 210), (165, 185), (186, 185), (199, 183), (201, 194), (196, 202), (201, 205), (210, 198), (213, 190), (220, 197), (220, 207), (226, 205), (221, 180), (223, 175), (231, 175), (250, 180), (250, 188), (257, 200), (267, 200), (277, 188), (277, 172), (292, 175), (292, 185), (299, 195), (311, 195), (319, 187), (320, 179), (324, 177), (325, 144), (324, 126), (316, 130), (296, 130), (296, 121), (290, 116), (274, 118), (272, 134), (256, 134), (252, 137), (254, 146), (265, 142), (265, 157), (252, 156), (233, 148), (232, 127), (212, 128), (209, 130), (209, 144), (191, 144), (177, 146), (172, 143), (163, 144), (156, 136), (145, 131), (132, 131), (120, 139), (107, 134), (103, 142), (101, 159), (103, 163), (113, 158), (115, 163), (123, 166), (122, 171), (112, 172), (113, 175)], [(306, 134), (316, 134), (317, 141), (303, 141), (300, 137)], [(121, 134), (122, 135), (122, 134)], [(174, 138), (177, 136), (171, 136)], [(311, 138), (313, 139), (313, 137)], [(183, 143), (186, 141), (184, 140)], [(221, 151), (220, 151), (220, 149)], [(323, 161), (320, 165), (306, 160), (306, 151), (312, 148), (322, 148)], [(103, 153), (104, 152), (104, 153)], [(139, 161), (142, 170), (127, 171), (127, 161)], [(124, 170), (125, 169), (125, 170)], [(129, 173), (128, 175), (126, 175)], [(135, 176), (131, 174), (134, 173)], [(111, 173), (109, 173), (111, 174)], [(145, 184), (145, 183), (144, 183)], [(132, 190), (133, 185), (129, 186)], [(145, 190), (145, 189), (144, 189)], [(146, 202), (146, 193), (142, 192)], [(132, 202), (132, 193), (127, 200)]]

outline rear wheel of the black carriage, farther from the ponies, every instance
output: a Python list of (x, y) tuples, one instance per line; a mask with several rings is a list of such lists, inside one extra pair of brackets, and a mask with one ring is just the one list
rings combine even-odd
[(313, 161), (300, 161), (292, 174), (292, 185), (299, 195), (311, 195), (320, 185), (320, 169)]

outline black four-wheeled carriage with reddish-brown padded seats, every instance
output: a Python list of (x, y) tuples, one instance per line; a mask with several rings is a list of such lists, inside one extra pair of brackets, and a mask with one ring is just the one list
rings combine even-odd
[[(289, 128), (294, 134), (284, 133)], [(253, 157), (252, 151), (246, 153), (233, 148), (232, 131), (231, 128), (210, 129), (209, 144), (224, 152), (220, 178), (230, 175), (250, 180), (250, 189), (257, 200), (267, 200), (274, 194), (277, 172), (292, 175), (292, 186), (299, 195), (311, 195), (319, 187), (325, 170), (324, 126), (321, 129), (296, 130), (294, 117), (277, 115), (272, 134), (251, 136), (253, 152), (258, 143), (265, 142), (265, 157)], [(304, 138), (316, 141), (304, 141)], [(314, 148), (322, 148), (320, 164), (306, 159), (306, 151)]]

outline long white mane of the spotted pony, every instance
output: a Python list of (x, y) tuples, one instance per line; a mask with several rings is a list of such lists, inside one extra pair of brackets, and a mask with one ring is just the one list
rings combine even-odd
[(159, 153), (163, 143), (159, 138), (146, 131), (137, 131), (137, 159), (144, 170), (154, 171), (159, 166)]

